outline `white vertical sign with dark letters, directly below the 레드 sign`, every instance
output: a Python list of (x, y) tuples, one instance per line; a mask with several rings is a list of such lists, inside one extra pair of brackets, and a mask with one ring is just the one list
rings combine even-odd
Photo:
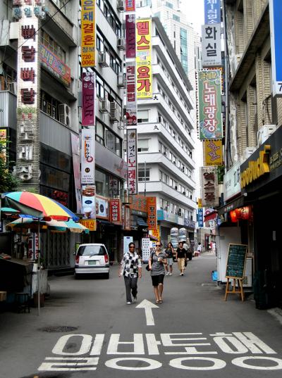
[(137, 129), (127, 130), (126, 133), (128, 155), (128, 190), (130, 194), (137, 194)]

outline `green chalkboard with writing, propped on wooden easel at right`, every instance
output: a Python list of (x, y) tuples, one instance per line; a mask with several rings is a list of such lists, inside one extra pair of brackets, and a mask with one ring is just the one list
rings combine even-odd
[(246, 256), (247, 245), (229, 244), (226, 277), (243, 278)]

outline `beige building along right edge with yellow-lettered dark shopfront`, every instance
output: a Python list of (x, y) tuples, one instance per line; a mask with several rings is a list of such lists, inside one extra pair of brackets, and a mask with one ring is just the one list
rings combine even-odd
[[(275, 52), (271, 45), (274, 28), (269, 23), (281, 9), (271, 12), (270, 3), (223, 1), (229, 57), (226, 68), (231, 80), (227, 83), (226, 101), (228, 179), (224, 186), (225, 206), (219, 210), (228, 222), (220, 227), (225, 238), (219, 238), (219, 251), (225, 248), (223, 239), (226, 243), (247, 244), (257, 308), (282, 303), (278, 216), (282, 210), (282, 100), (274, 96), (271, 75), (271, 68), (281, 64), (281, 59), (271, 58)], [(235, 227), (224, 227), (232, 225), (232, 220)], [(224, 260), (224, 256), (219, 257)]]

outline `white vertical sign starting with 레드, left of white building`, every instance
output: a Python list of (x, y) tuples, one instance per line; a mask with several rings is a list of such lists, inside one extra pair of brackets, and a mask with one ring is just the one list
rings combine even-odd
[(135, 61), (125, 63), (126, 82), (126, 125), (137, 125), (137, 94), (136, 94), (136, 65)]

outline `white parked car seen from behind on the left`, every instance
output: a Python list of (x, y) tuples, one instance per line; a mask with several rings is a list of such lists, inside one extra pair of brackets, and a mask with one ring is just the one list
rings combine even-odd
[(75, 278), (98, 273), (109, 278), (109, 272), (109, 253), (104, 244), (80, 244), (75, 253)]

